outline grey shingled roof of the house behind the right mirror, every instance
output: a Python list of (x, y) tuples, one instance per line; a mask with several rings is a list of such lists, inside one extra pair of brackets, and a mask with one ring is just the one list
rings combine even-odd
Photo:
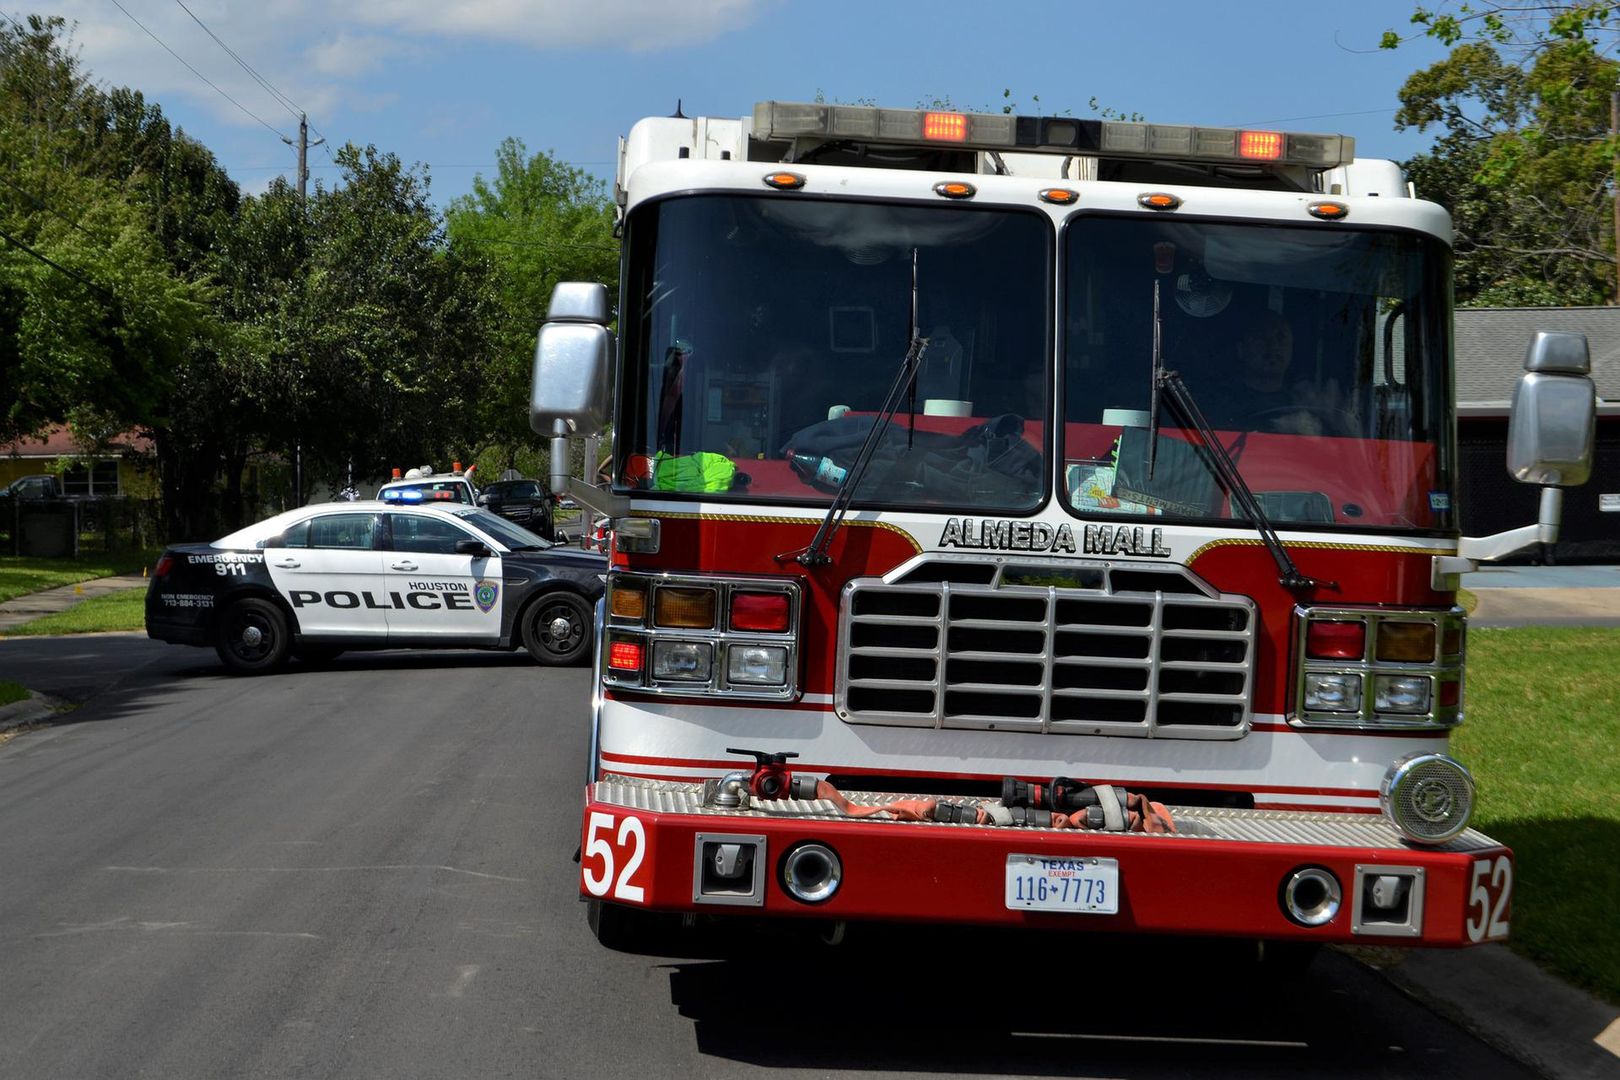
[(1537, 330), (1584, 334), (1602, 402), (1620, 402), (1620, 308), (1458, 308), (1456, 408), (1505, 415)]

